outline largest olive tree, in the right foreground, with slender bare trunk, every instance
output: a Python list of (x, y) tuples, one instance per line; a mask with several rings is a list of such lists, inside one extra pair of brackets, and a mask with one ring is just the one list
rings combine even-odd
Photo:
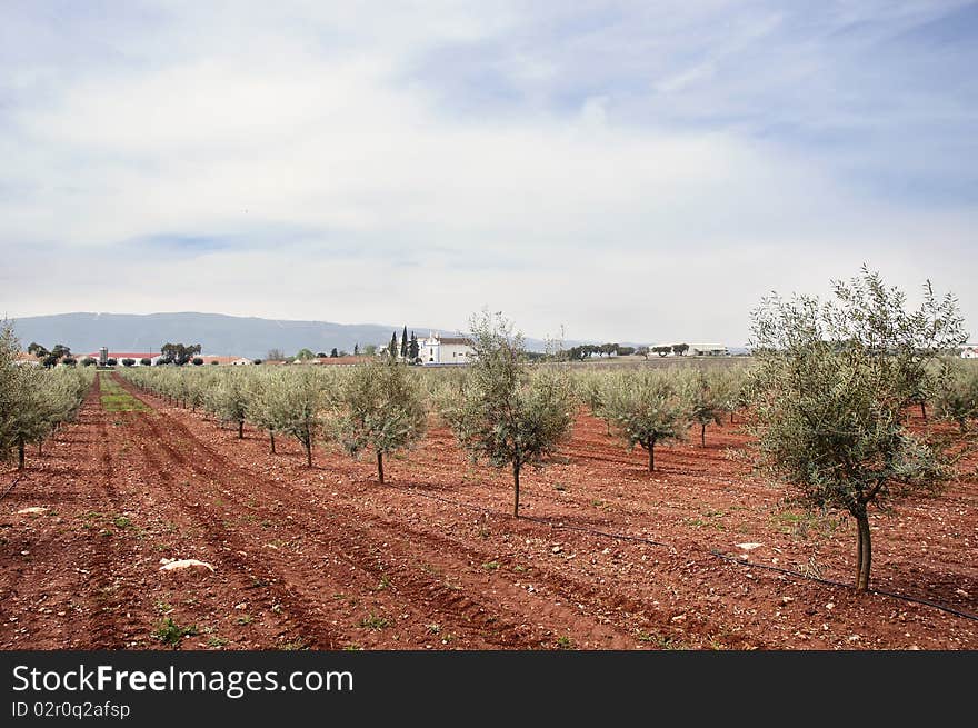
[(908, 407), (932, 387), (938, 355), (966, 340), (957, 301), (906, 295), (862, 268), (820, 301), (777, 295), (751, 315), (751, 391), (759, 465), (796, 499), (857, 525), (857, 590), (869, 588), (870, 507), (937, 488), (952, 471), (941, 443), (907, 428)]

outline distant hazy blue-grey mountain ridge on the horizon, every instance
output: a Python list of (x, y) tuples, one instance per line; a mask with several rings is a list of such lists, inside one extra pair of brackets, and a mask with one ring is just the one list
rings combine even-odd
[[(400, 337), (403, 325), (332, 323), (330, 321), (279, 321), (222, 313), (58, 313), (16, 319), (14, 331), (26, 349), (31, 341), (51, 348), (71, 347), (76, 353), (98, 351), (159, 351), (168, 341), (200, 343), (203, 353), (265, 358), (270, 349), (293, 355), (299, 349), (329, 352), (333, 347), (352, 351), (359, 343), (383, 346), (393, 331)], [(408, 325), (418, 338), (431, 331), (456, 335), (451, 328)], [(568, 341), (577, 346), (580, 341)], [(585, 342), (596, 343), (596, 342)], [(625, 345), (625, 342), (622, 342)], [(542, 351), (541, 339), (527, 339), (527, 348)]]

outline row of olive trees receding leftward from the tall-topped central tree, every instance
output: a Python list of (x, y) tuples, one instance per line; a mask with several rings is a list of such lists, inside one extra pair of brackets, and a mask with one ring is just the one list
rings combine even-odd
[(522, 468), (552, 452), (569, 432), (577, 400), (566, 373), (531, 371), (522, 338), (501, 317), (473, 321), (476, 362), (465, 370), (418, 372), (392, 360), (349, 369), (248, 368), (218, 371), (176, 368), (120, 372), (176, 403), (202, 408), (243, 437), (250, 422), (269, 435), (295, 437), (312, 465), (318, 441), (350, 455), (370, 451), (383, 482), (383, 459), (425, 435), (428, 401), (473, 458), (513, 476), (513, 513), (519, 515)]

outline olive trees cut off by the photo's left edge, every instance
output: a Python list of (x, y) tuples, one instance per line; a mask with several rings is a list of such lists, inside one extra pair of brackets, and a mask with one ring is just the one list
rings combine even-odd
[(93, 375), (74, 367), (17, 363), (20, 346), (9, 322), (0, 325), (0, 461), (23, 469), (28, 445), (41, 443), (74, 418)]

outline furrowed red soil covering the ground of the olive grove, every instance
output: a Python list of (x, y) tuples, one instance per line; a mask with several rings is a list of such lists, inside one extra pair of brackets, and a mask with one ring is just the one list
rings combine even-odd
[[(139, 397), (152, 411), (106, 412), (97, 386), (0, 500), (3, 648), (162, 647), (164, 617), (197, 627), (184, 649), (978, 648), (978, 621), (762, 568), (848, 584), (855, 530), (786, 509), (731, 457), (736, 426), (650, 475), (582, 415), (515, 520), (509, 473), (445, 429), (379, 486), (370, 458), (319, 447), (309, 469), (296, 442)], [(971, 475), (874, 515), (874, 588), (978, 612), (976, 501)]]

